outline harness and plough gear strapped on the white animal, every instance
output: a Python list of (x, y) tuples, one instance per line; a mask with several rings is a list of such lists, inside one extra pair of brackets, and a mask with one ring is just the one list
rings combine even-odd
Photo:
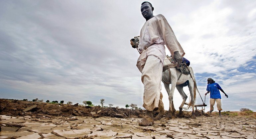
[[(180, 66), (179, 68), (177, 68), (176, 65), (173, 64), (173, 63), (174, 63), (173, 58), (170, 57), (170, 56), (168, 56), (168, 55), (166, 55), (166, 57), (167, 57), (167, 59), (169, 59), (169, 60), (171, 61), (171, 64), (164, 65), (164, 66), (163, 66), (163, 72), (166, 71), (166, 70), (169, 70), (170, 68), (176, 68), (177, 70), (179, 70), (179, 71), (181, 72), (181, 74), (180, 74), (178, 80), (181, 78), (181, 75), (182, 75), (182, 74), (185, 74), (185, 75), (189, 75), (189, 74), (190, 74), (190, 77), (192, 78), (192, 80), (193, 80), (193, 82), (194, 82), (194, 87), (196, 88), (196, 90), (197, 90), (197, 92), (198, 92), (198, 94), (199, 94), (199, 96), (200, 96), (200, 98), (201, 98), (201, 100), (202, 100), (202, 102), (203, 102), (203, 104), (195, 104), (194, 106), (195, 106), (195, 107), (201, 107), (201, 106), (202, 106), (202, 107), (205, 107), (205, 106), (207, 106), (207, 105), (205, 104), (205, 96), (204, 96), (204, 101), (203, 101), (203, 99), (202, 99), (202, 97), (201, 97), (201, 95), (200, 95), (200, 93), (199, 93), (199, 91), (198, 91), (198, 89), (197, 89), (197, 87), (196, 87), (196, 85), (195, 85), (196, 83), (195, 83), (195, 80), (193, 79), (193, 77), (192, 77), (192, 75), (191, 75), (191, 72), (190, 72), (190, 70), (189, 70), (189, 66), (186, 64), (186, 62), (182, 63), (181, 66)], [(169, 77), (170, 77), (170, 79), (171, 79), (171, 71), (170, 71), (170, 70), (169, 70)], [(164, 83), (166, 83), (164, 80), (162, 80), (162, 81), (163, 81)], [(166, 84), (168, 84), (168, 83), (166, 83)], [(186, 81), (185, 83), (183, 83), (183, 86), (187, 86), (187, 85), (188, 85), (188, 81)], [(185, 104), (188, 105), (187, 102), (185, 102)]]

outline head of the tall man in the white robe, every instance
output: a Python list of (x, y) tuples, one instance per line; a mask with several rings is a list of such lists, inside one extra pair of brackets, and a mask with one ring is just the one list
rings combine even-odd
[(146, 21), (154, 17), (153, 15), (154, 7), (150, 2), (146, 2), (146, 1), (143, 2), (141, 4), (140, 11), (142, 16), (146, 19)]

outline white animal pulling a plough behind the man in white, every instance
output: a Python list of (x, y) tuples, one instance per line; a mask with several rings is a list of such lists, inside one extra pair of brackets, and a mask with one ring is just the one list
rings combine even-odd
[[(167, 64), (172, 64), (171, 60), (167, 58), (167, 56), (165, 57), (164, 60), (164, 65)], [(172, 119), (173, 116), (175, 116), (175, 109), (174, 109), (174, 105), (173, 105), (173, 94), (174, 94), (174, 90), (175, 87), (177, 88), (177, 90), (179, 91), (179, 93), (181, 94), (182, 98), (183, 98), (183, 102), (181, 104), (181, 106), (179, 107), (180, 109), (180, 113), (179, 115), (183, 115), (182, 109), (183, 106), (188, 98), (188, 96), (185, 94), (185, 92), (183, 91), (183, 83), (187, 83), (188, 87), (189, 87), (189, 91), (190, 91), (190, 102), (188, 104), (188, 108), (192, 107), (192, 119), (195, 119), (195, 112), (194, 112), (194, 103), (195, 103), (195, 98), (196, 98), (196, 82), (195, 82), (195, 77), (194, 77), (194, 73), (191, 67), (189, 67), (190, 70), (190, 74), (185, 75), (185, 74), (181, 74), (181, 72), (179, 70), (177, 70), (176, 68), (169, 68), (168, 70), (165, 70), (162, 74), (162, 81), (164, 83), (165, 89), (169, 95), (169, 112), (167, 115), (167, 119)], [(180, 78), (179, 78), (180, 76)], [(192, 76), (192, 77), (191, 77)], [(178, 80), (179, 78), (179, 80)], [(170, 89), (170, 84), (171, 85), (171, 89)]]

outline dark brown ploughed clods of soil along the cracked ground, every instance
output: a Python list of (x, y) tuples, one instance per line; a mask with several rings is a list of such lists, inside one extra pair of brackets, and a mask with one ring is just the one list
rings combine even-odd
[[(0, 113), (1, 115), (7, 116), (91, 116), (94, 118), (107, 116), (118, 118), (143, 118), (145, 110), (0, 99)], [(153, 116), (157, 116), (158, 113), (158, 111), (154, 112)], [(176, 111), (177, 116), (178, 113), (179, 111)], [(166, 116), (167, 114), (168, 112), (166, 112)], [(197, 116), (202, 116), (202, 114), (198, 111)], [(191, 112), (184, 112), (184, 116), (182, 117), (191, 117)]]

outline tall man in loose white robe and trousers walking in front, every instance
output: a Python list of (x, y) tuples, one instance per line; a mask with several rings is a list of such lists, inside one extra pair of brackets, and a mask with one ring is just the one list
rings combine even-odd
[(142, 73), (141, 80), (144, 84), (143, 107), (146, 109), (145, 117), (139, 125), (151, 126), (154, 124), (153, 111), (160, 110), (164, 113), (161, 94), (161, 80), (165, 46), (177, 62), (177, 67), (185, 55), (180, 43), (163, 15), (153, 15), (154, 7), (149, 2), (141, 5), (141, 14), (146, 19), (140, 32), (139, 50), (142, 51), (137, 61), (137, 67)]

